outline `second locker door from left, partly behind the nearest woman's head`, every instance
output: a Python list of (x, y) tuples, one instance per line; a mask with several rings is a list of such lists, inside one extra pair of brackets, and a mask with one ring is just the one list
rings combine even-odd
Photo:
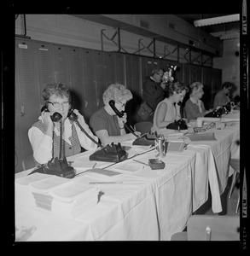
[(38, 93), (40, 99), (40, 107), (44, 105), (44, 100), (42, 98), (42, 92), (46, 84), (53, 83), (54, 72), (52, 65), (52, 49), (51, 44), (43, 42), (34, 42), (34, 59), (37, 63), (36, 73), (38, 79)]

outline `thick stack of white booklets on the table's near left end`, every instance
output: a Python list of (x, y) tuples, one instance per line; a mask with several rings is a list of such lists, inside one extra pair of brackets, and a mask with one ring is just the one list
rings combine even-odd
[(30, 183), (36, 206), (56, 216), (75, 218), (98, 201), (99, 189), (62, 177)]

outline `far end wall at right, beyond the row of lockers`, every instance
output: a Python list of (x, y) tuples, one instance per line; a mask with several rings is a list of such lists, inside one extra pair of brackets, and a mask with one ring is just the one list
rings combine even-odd
[(240, 95), (240, 38), (224, 40), (223, 58), (214, 58), (213, 67), (222, 69), (222, 81), (237, 86), (234, 96)]

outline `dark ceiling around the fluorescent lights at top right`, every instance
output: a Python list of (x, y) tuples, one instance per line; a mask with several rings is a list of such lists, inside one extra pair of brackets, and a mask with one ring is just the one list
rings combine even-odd
[[(217, 15), (176, 15), (177, 17), (188, 21), (190, 24), (194, 25), (195, 20), (210, 19), (215, 17), (220, 17), (224, 15), (232, 14), (217, 14)], [(224, 24), (217, 24), (212, 26), (201, 26), (200, 27), (205, 32), (210, 33), (215, 38), (221, 38), (222, 35), (233, 35), (235, 38), (239, 38), (240, 35), (240, 21), (233, 21)]]

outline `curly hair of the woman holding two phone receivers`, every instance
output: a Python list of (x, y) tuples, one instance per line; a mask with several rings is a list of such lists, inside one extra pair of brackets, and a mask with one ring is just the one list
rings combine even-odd
[(71, 102), (71, 93), (65, 84), (53, 83), (47, 84), (42, 92), (44, 102), (48, 102), (49, 97), (55, 95), (57, 97), (66, 96), (68, 101)]

